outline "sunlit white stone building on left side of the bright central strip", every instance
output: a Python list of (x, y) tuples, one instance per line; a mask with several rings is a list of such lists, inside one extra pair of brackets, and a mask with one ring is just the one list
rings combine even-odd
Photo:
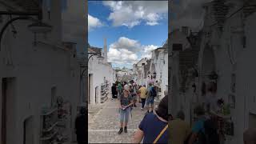
[(107, 62), (106, 40), (103, 51), (102, 48), (90, 46), (88, 52), (100, 55), (88, 55), (88, 102), (99, 104), (110, 96), (110, 88), (116, 81), (116, 73), (111, 63)]

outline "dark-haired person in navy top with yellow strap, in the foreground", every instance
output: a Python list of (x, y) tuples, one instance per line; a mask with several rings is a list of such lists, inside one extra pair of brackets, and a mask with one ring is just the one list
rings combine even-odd
[(134, 143), (168, 143), (168, 96), (162, 98), (158, 109), (142, 119), (134, 134)]

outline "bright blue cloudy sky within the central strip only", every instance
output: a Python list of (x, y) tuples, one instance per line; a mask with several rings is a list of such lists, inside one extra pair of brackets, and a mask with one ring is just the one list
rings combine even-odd
[(88, 42), (102, 48), (108, 62), (129, 67), (168, 38), (167, 1), (88, 1)]

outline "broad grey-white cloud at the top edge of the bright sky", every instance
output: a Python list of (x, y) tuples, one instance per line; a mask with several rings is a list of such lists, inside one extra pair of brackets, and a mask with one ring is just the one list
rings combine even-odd
[(109, 20), (113, 26), (132, 28), (145, 22), (146, 25), (158, 25), (158, 21), (166, 17), (168, 1), (105, 1), (103, 5), (112, 11)]

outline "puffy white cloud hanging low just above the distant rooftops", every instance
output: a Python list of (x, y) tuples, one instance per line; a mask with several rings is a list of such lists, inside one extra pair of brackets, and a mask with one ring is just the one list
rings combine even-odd
[(117, 42), (110, 44), (108, 61), (120, 65), (132, 65), (141, 58), (151, 58), (151, 50), (158, 46), (141, 45), (140, 42), (121, 37)]

